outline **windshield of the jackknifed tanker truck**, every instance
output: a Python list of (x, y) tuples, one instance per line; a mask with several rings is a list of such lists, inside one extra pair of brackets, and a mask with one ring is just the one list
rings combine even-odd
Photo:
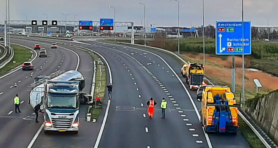
[(77, 106), (77, 96), (56, 96), (56, 95), (48, 95), (47, 100), (48, 108), (68, 108), (68, 109), (76, 109)]

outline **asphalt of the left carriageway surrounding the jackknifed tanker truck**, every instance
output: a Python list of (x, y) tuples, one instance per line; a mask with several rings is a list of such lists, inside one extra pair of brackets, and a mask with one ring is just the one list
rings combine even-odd
[[(26, 41), (26, 40), (14, 40), (11, 39), (11, 42), (25, 45), (27, 47), (33, 48), (34, 44), (38, 42), (34, 41)], [(55, 72), (56, 69), (58, 70), (75, 70), (78, 62), (78, 57), (71, 51), (58, 47), (57, 50), (49, 49), (50, 44), (46, 43), (43, 44), (42, 42), (39, 43), (42, 48), (46, 48), (49, 53), (47, 58), (36, 58), (34, 60), (34, 71), (22, 71), (18, 70), (11, 75), (8, 75), (2, 79), (0, 79), (1, 83), (1, 92), (0, 95), (2, 104), (0, 108), (0, 132), (4, 133), (0, 136), (0, 147), (27, 147), (29, 142), (33, 139), (35, 133), (38, 131), (39, 127), (42, 123), (42, 118), (40, 118), (41, 123), (34, 122), (34, 115), (33, 109), (29, 106), (28, 103), (28, 95), (29, 91), (27, 86), (30, 83), (33, 83), (33, 78), (30, 77), (30, 74), (33, 73), (33, 77), (39, 75), (49, 75), (52, 72)], [(69, 47), (66, 47), (69, 48)], [(93, 77), (93, 60), (91, 59), (90, 55), (87, 53), (74, 49), (79, 56), (82, 58), (80, 59), (80, 67), (78, 71), (80, 71), (86, 77), (86, 88), (85, 92), (90, 92), (91, 90), (91, 82)], [(50, 56), (51, 55), (51, 56)], [(46, 62), (47, 61), (47, 62)], [(61, 64), (60, 64), (61, 63)], [(39, 70), (39, 67), (43, 66), (43, 70)], [(60, 67), (58, 67), (60, 66)], [(90, 68), (92, 67), (92, 68)], [(38, 69), (38, 70), (37, 70)], [(26, 78), (27, 77), (27, 78)], [(16, 88), (10, 88), (15, 82), (18, 83)], [(19, 94), (21, 106), (20, 109), (22, 113), (14, 113), (14, 104), (13, 98), (16, 94)], [(81, 107), (81, 113), (86, 114), (86, 107)], [(11, 112), (13, 111), (13, 112)], [(86, 134), (93, 132), (92, 130), (88, 130), (91, 127), (91, 123), (87, 123), (85, 119), (81, 119), (82, 128), (80, 129), (80, 134), (76, 135), (78, 138), (73, 137), (65, 137), (65, 136), (56, 136), (56, 135), (44, 135), (44, 133), (40, 133), (34, 143), (33, 147), (64, 147), (68, 144), (68, 147), (72, 146), (73, 144), (77, 146), (81, 146), (83, 143), (80, 139), (88, 139), (89, 136)], [(88, 129), (86, 129), (88, 128)], [(95, 131), (98, 131), (95, 129)], [(56, 137), (55, 137), (56, 136)], [(58, 139), (57, 139), (58, 138)], [(80, 139), (79, 139), (80, 138)], [(87, 139), (86, 139), (87, 138)], [(56, 139), (56, 141), (53, 141)], [(76, 139), (76, 140), (73, 140)], [(79, 139), (79, 140), (78, 140)], [(59, 146), (60, 144), (60, 146)], [(62, 145), (63, 144), (63, 145)], [(79, 145), (78, 145), (79, 144)], [(75, 147), (77, 147), (75, 146)], [(85, 147), (88, 147), (85, 145)]]

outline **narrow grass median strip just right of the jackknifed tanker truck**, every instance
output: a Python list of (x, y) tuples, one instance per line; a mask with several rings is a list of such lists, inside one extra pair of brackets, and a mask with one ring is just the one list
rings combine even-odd
[[(93, 55), (93, 59), (97, 60), (98, 57), (97, 55)], [(106, 68), (105, 65), (103, 64), (98, 64), (96, 62), (96, 84), (95, 84), (95, 92), (94, 92), (94, 99), (97, 97), (101, 99), (103, 102), (104, 100), (104, 95), (105, 95), (105, 90), (106, 90)], [(101, 107), (97, 108), (93, 106), (91, 108), (91, 119), (98, 119), (100, 113), (101, 113)]]

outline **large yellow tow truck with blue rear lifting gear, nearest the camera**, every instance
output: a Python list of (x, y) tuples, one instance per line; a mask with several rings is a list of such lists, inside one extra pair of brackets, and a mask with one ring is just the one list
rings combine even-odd
[(237, 134), (238, 107), (227, 86), (206, 86), (202, 93), (201, 125), (205, 132)]

